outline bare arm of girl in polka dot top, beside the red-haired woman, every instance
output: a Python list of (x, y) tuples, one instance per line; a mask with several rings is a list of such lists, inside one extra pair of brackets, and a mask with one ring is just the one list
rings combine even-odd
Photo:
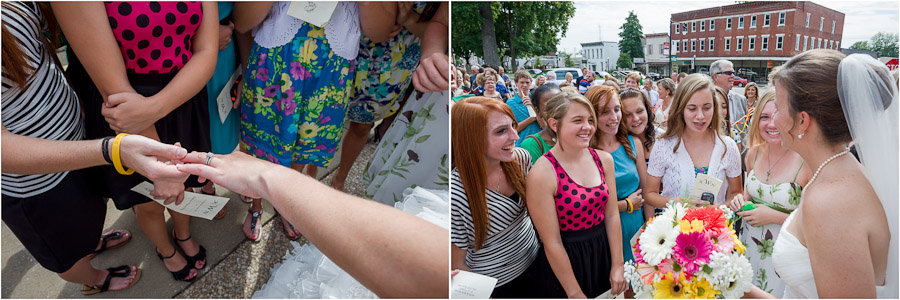
[(556, 178), (547, 158), (538, 158), (534, 167), (528, 172), (525, 185), (528, 190), (525, 197), (528, 214), (541, 237), (541, 242), (544, 243), (544, 252), (547, 254), (553, 274), (556, 275), (569, 298), (585, 298), (581, 286), (575, 279), (569, 254), (566, 253), (566, 248), (563, 247), (562, 238), (559, 235), (559, 221), (553, 201), (553, 194), (556, 193)]

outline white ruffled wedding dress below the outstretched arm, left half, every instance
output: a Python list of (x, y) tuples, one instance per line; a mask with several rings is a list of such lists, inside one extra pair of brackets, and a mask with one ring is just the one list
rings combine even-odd
[[(408, 188), (403, 201), (395, 208), (449, 230), (450, 193), (447, 190)], [(378, 298), (375, 293), (353, 279), (311, 243), (291, 242), (294, 249), (284, 261), (272, 268), (263, 287), (253, 294), (255, 299), (365, 299)]]

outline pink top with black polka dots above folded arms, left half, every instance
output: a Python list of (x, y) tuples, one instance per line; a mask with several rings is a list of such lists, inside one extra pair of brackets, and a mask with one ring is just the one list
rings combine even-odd
[(138, 74), (180, 70), (203, 20), (200, 2), (106, 2), (125, 68)]

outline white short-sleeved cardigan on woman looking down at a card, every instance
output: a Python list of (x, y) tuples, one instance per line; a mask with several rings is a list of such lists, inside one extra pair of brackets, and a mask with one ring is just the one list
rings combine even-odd
[[(660, 195), (663, 197), (689, 197), (697, 178), (691, 156), (684, 148), (684, 141), (679, 144), (677, 152), (672, 152), (678, 140), (677, 136), (658, 139), (650, 152), (647, 174), (662, 178), (663, 190)], [(723, 138), (724, 143), (718, 137), (714, 140), (716, 145), (709, 157), (707, 174), (722, 181), (722, 187), (716, 195), (716, 203), (721, 204), (728, 191), (728, 178), (741, 176), (741, 154), (734, 140)], [(725, 149), (728, 152), (722, 157)]]

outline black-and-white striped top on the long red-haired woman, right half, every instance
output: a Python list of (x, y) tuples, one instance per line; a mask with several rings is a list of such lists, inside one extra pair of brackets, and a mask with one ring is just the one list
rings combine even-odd
[[(531, 168), (531, 155), (515, 148), (516, 161), (525, 174)], [(487, 193), (489, 228), (481, 249), (475, 250), (475, 230), (469, 201), (459, 173), (450, 175), (450, 242), (466, 250), (466, 265), (474, 273), (497, 279), (502, 286), (525, 272), (537, 256), (537, 235), (525, 208), (525, 199), (510, 199), (490, 189)]]

